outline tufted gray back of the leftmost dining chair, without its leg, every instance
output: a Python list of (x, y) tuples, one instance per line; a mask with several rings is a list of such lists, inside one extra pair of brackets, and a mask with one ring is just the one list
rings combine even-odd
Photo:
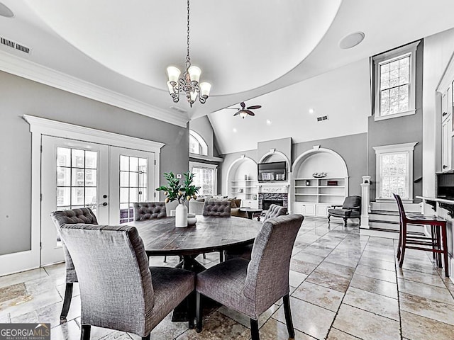
[[(96, 216), (90, 208), (79, 208), (72, 210), (58, 210), (50, 212), (50, 217), (57, 228), (57, 233), (60, 235), (60, 227), (66, 224), (84, 223), (86, 225), (97, 225), (98, 221)], [(66, 282), (77, 282), (77, 274), (74, 269), (74, 263), (65, 242), (62, 241), (63, 252), (65, 253), (65, 266), (66, 266)]]

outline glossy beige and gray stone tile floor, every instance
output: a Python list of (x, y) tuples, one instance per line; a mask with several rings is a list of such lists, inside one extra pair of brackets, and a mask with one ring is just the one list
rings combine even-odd
[[(301, 339), (454, 339), (454, 283), (433, 266), (423, 251), (407, 251), (396, 268), (396, 241), (360, 236), (358, 226), (306, 219), (294, 246), (291, 306), (297, 340)], [(214, 266), (218, 254), (200, 261)], [(175, 265), (162, 257), (151, 265)], [(79, 339), (77, 284), (68, 322), (59, 323), (65, 292), (62, 264), (0, 278), (1, 322), (50, 322), (52, 340)], [(260, 317), (260, 339), (288, 339), (282, 301)], [(250, 339), (249, 320), (219, 307), (197, 334), (187, 323), (166, 317), (152, 339)], [(139, 339), (110, 329), (92, 328), (92, 339)]]

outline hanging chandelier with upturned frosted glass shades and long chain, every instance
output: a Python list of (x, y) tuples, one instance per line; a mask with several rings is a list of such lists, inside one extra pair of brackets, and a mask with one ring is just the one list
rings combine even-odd
[(174, 103), (179, 101), (179, 94), (184, 93), (192, 107), (196, 101), (197, 96), (199, 101), (204, 104), (210, 95), (211, 84), (199, 83), (201, 69), (196, 66), (191, 66), (191, 58), (189, 57), (189, 0), (187, 0), (187, 56), (186, 56), (186, 70), (183, 77), (179, 78), (181, 72), (175, 66), (167, 67), (167, 87), (169, 88), (170, 96)]

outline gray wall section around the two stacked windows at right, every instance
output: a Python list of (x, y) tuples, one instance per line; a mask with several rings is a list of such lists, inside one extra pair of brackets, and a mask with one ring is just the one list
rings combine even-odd
[[(367, 171), (371, 176), (370, 200), (375, 201), (376, 195), (376, 161), (373, 147), (382, 145), (394, 145), (410, 142), (418, 142), (413, 152), (413, 180), (422, 176), (423, 162), (423, 42), (421, 41), (416, 50), (416, 113), (404, 117), (391, 118), (375, 121), (369, 118), (369, 156)], [(413, 183), (413, 197), (421, 196), (422, 181)], [(416, 200), (417, 202), (421, 200)]]

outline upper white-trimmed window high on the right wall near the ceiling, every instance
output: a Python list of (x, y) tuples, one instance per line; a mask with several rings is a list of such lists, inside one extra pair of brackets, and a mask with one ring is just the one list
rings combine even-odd
[(416, 47), (399, 47), (372, 58), (374, 62), (375, 120), (415, 113)]

